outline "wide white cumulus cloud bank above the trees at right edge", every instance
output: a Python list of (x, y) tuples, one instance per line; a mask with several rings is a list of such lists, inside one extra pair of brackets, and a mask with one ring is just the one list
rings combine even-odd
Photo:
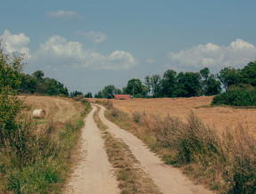
[(254, 61), (256, 46), (236, 39), (224, 46), (218, 44), (200, 44), (179, 53), (169, 53), (169, 68), (182, 70), (202, 69), (204, 67), (221, 69), (223, 66), (241, 68), (249, 61)]

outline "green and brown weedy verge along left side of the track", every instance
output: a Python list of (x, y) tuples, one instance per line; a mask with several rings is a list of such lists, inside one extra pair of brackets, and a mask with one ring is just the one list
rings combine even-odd
[[(81, 116), (89, 111), (88, 106)], [(0, 192), (60, 192), (70, 173), (83, 117), (62, 125), (49, 121), (39, 133), (33, 119), (27, 117), (21, 118), (15, 146), (0, 148)]]

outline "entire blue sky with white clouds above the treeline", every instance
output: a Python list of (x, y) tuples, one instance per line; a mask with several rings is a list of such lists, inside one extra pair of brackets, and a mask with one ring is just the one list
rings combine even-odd
[(25, 53), (70, 92), (163, 75), (218, 73), (256, 60), (255, 0), (8, 0), (0, 7), (5, 53)]

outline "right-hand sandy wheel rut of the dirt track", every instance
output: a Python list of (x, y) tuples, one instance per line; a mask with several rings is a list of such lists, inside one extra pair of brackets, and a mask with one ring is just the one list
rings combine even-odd
[(148, 150), (144, 143), (136, 138), (132, 133), (120, 129), (119, 126), (111, 123), (104, 117), (103, 106), (99, 112), (99, 117), (103, 124), (107, 125), (110, 133), (124, 141), (132, 151), (136, 159), (141, 163), (145, 172), (152, 176), (153, 181), (161, 188), (163, 193), (212, 193), (210, 190), (204, 189), (200, 185), (194, 185), (193, 182), (187, 180), (177, 168), (165, 165), (160, 158), (156, 157), (153, 152)]

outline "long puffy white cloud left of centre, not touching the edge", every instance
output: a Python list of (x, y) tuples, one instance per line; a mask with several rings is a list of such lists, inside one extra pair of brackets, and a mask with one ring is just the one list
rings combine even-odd
[(109, 55), (87, 52), (82, 44), (67, 41), (62, 36), (52, 36), (41, 44), (33, 60), (55, 63), (54, 67), (78, 69), (131, 69), (137, 65), (131, 53), (119, 50)]

